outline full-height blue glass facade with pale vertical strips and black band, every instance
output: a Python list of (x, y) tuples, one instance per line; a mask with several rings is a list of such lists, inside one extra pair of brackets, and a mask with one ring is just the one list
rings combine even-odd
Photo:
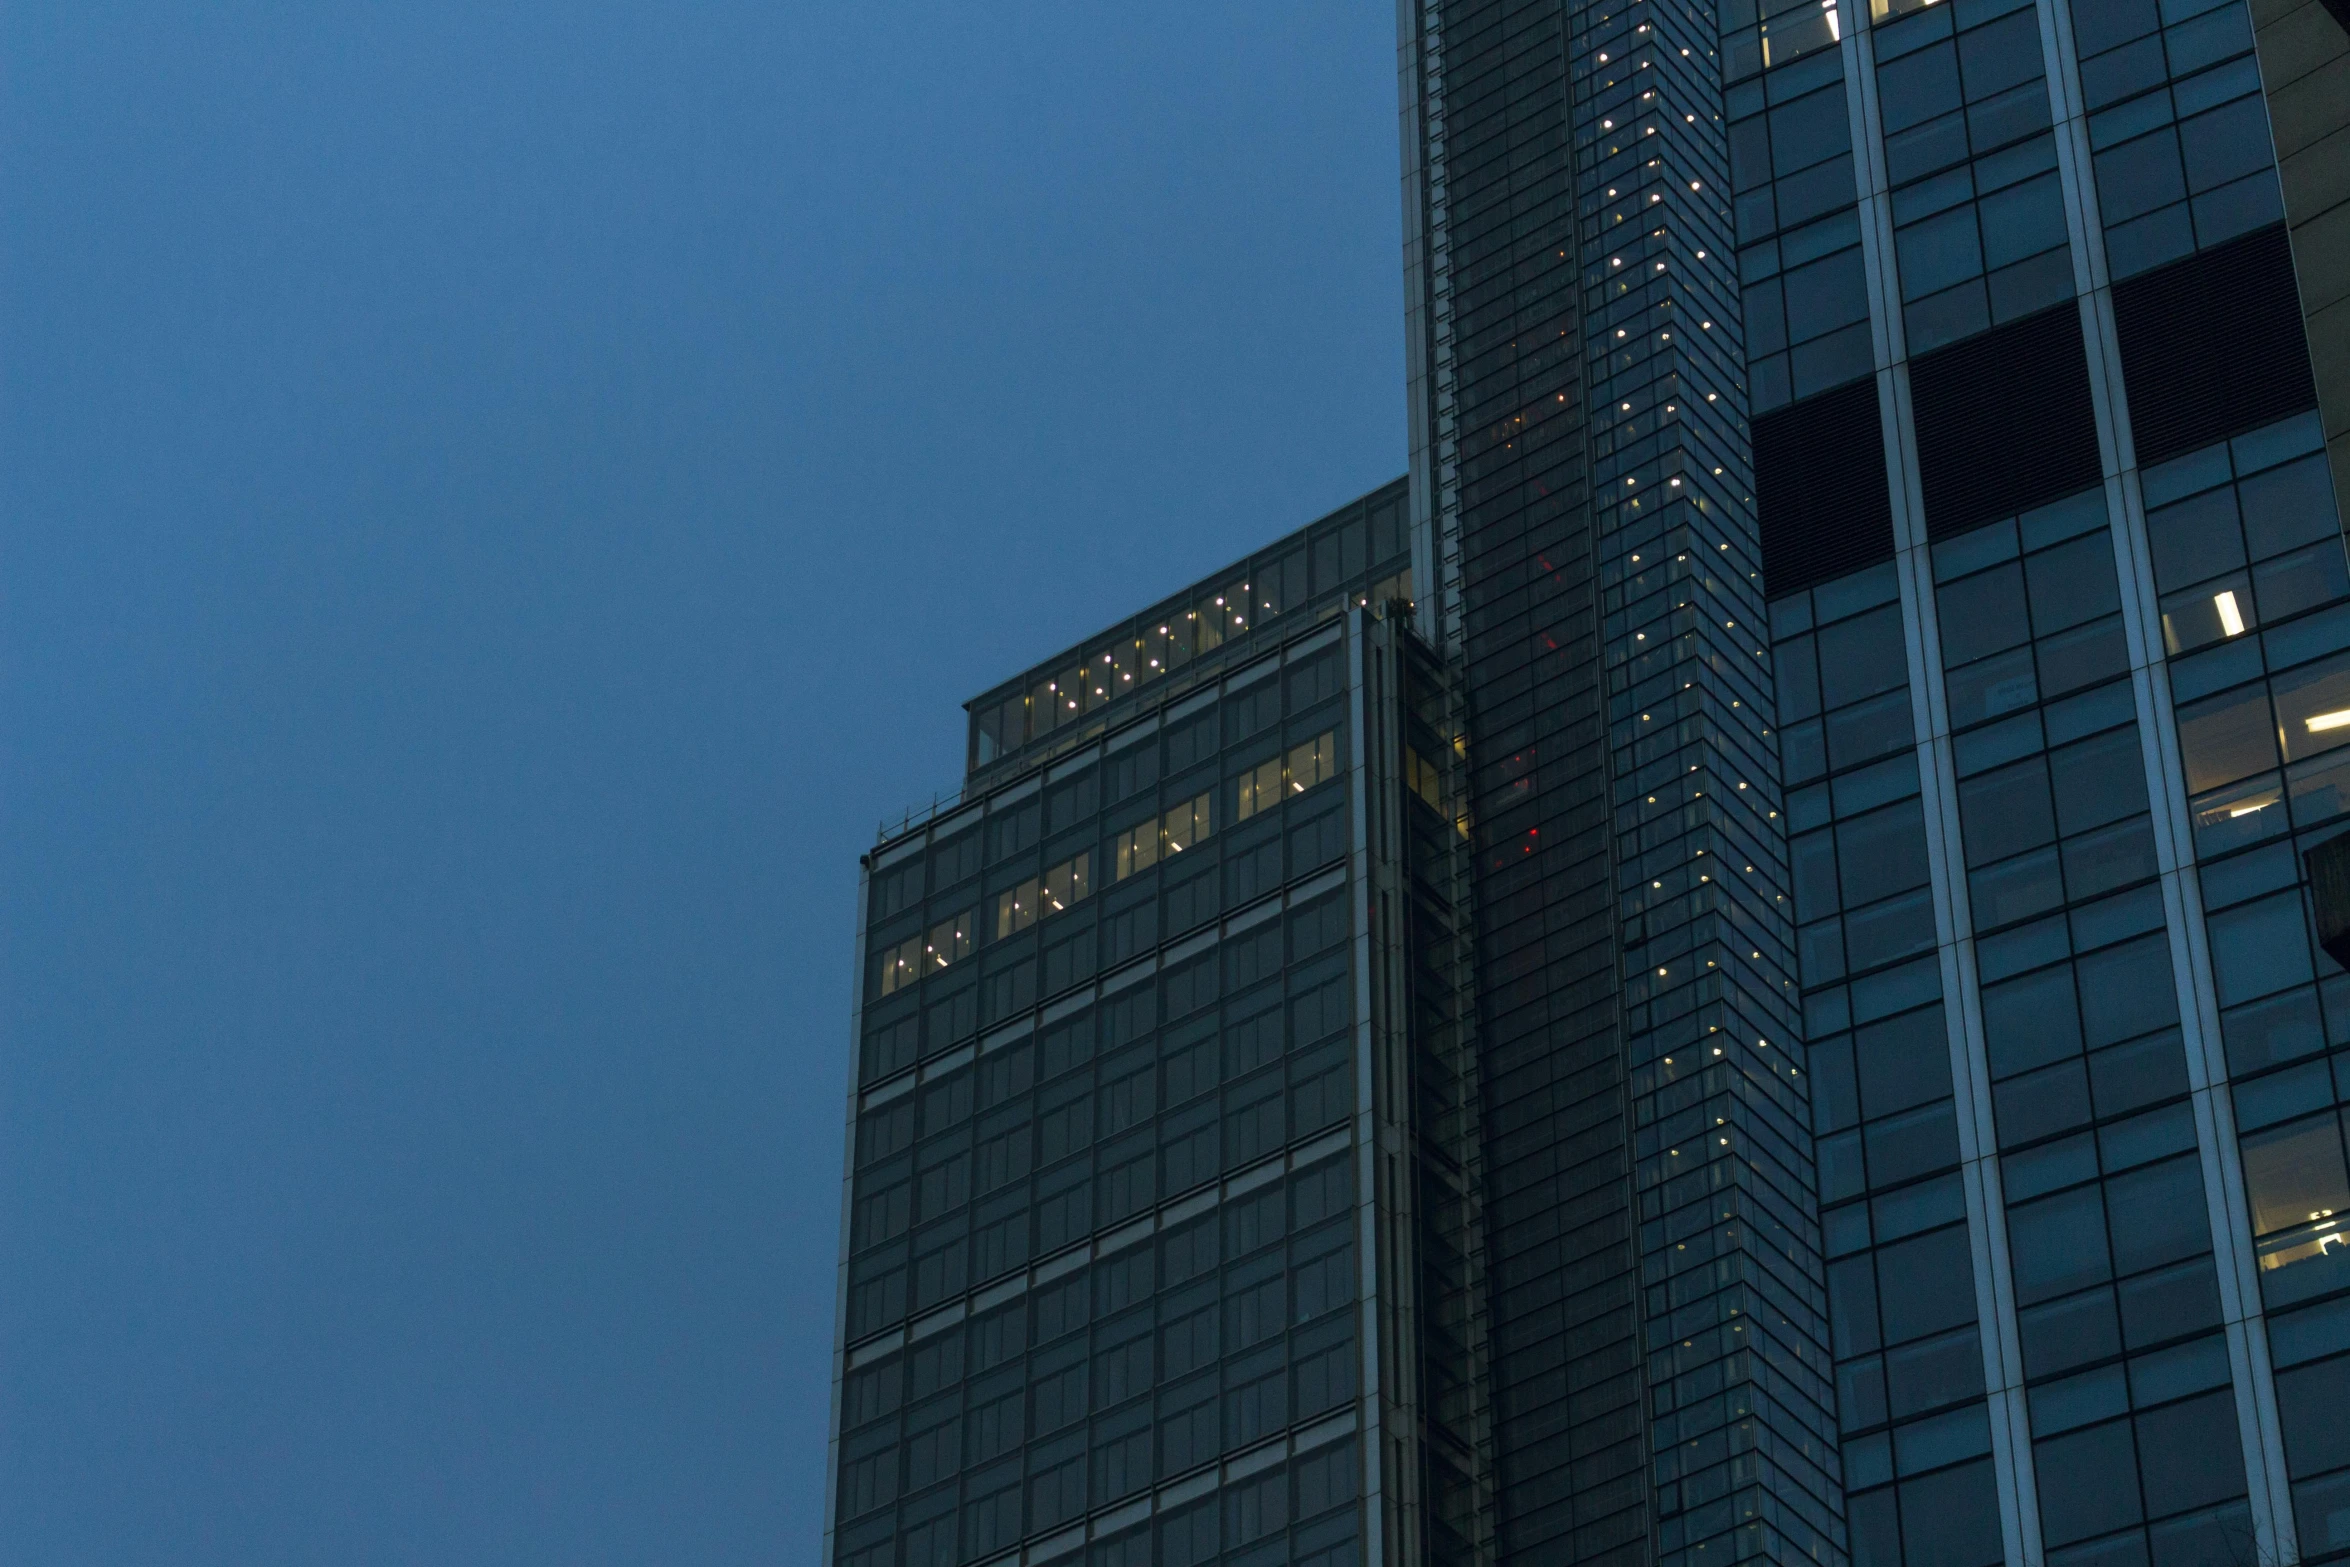
[(2338, 1555), (2350, 1337), (2284, 1309), (2341, 1287), (2296, 850), (2350, 625), (2251, 16), (1774, 26), (1725, 80), (1849, 1551)]

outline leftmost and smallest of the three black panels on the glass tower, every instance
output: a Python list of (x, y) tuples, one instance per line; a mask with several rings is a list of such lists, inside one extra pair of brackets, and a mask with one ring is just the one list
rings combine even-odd
[(1762, 583), (1772, 594), (1894, 552), (1875, 376), (1753, 421)]

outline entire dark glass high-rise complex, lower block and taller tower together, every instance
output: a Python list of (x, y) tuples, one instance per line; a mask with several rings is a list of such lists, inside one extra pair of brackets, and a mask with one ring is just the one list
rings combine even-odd
[(865, 860), (827, 1560), (2350, 1555), (2341, 21), (1401, 9), (1408, 477)]

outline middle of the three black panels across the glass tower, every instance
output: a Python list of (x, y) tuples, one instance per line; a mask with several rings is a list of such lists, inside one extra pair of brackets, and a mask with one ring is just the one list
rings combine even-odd
[(1932, 538), (2026, 512), (2101, 477), (2075, 305), (1911, 359), (1911, 404)]

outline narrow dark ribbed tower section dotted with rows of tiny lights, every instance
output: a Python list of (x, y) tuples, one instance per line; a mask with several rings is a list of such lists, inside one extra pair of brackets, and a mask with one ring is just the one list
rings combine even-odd
[(1701, 5), (1408, 12), (1504, 1562), (1842, 1551), (1718, 75)]

